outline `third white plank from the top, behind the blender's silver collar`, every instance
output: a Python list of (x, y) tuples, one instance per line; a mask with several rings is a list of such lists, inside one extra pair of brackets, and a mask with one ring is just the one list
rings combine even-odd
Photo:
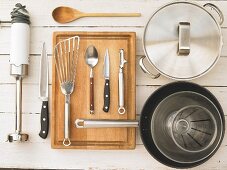
[[(139, 67), (139, 59), (141, 56), (137, 57), (137, 67), (136, 67), (136, 83), (137, 85), (163, 85), (173, 80), (168, 79), (164, 76), (160, 76), (157, 79), (150, 78), (149, 75), (145, 74)], [(0, 84), (15, 83), (14, 77), (10, 76), (10, 65), (9, 56), (0, 55), (0, 65), (2, 74), (0, 76)], [(39, 82), (39, 63), (40, 56), (30, 56), (30, 65), (28, 76), (23, 79), (26, 84), (38, 84)], [(227, 79), (225, 78), (227, 73), (227, 57), (221, 57), (218, 63), (210, 72), (206, 75), (193, 80), (193, 82), (198, 83), (203, 86), (227, 86)], [(148, 68), (153, 72), (157, 73), (151, 66)], [(49, 83), (52, 84), (52, 56), (49, 56)]]

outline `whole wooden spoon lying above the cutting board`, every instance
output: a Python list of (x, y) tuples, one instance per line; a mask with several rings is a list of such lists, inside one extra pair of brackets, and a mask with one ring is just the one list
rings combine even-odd
[(83, 13), (70, 7), (60, 6), (53, 10), (52, 16), (56, 22), (68, 23), (82, 17), (139, 17), (140, 13)]

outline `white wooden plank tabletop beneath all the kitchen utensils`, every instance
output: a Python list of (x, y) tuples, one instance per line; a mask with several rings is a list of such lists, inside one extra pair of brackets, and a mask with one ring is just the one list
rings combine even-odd
[[(9, 20), (16, 0), (0, 0), (0, 20)], [(135, 150), (53, 150), (50, 135), (46, 140), (38, 136), (40, 129), (41, 101), (38, 98), (39, 59), (42, 43), (46, 42), (52, 58), (52, 33), (54, 31), (134, 31), (137, 33), (137, 58), (144, 55), (142, 34), (152, 12), (169, 0), (20, 0), (31, 15), (31, 50), (29, 75), (23, 81), (23, 132), (29, 134), (26, 143), (7, 143), (8, 133), (14, 132), (15, 79), (9, 74), (10, 25), (0, 28), (0, 167), (4, 168), (58, 168), (89, 170), (170, 169), (152, 158), (145, 150), (139, 134)], [(204, 4), (207, 1), (198, 1)], [(223, 11), (226, 21), (222, 25), (224, 41), (227, 40), (227, 1), (210, 1)], [(139, 18), (83, 18), (60, 25), (52, 17), (57, 6), (71, 6), (85, 12), (140, 12)], [(138, 62), (137, 62), (138, 63)], [(159, 86), (171, 80), (161, 76), (153, 80), (137, 67), (137, 115), (146, 98)], [(194, 80), (207, 87), (227, 112), (227, 42), (224, 43), (217, 65), (205, 76)], [(51, 80), (50, 80), (51, 89)], [(206, 163), (195, 169), (227, 169), (227, 138), (218, 152)]]

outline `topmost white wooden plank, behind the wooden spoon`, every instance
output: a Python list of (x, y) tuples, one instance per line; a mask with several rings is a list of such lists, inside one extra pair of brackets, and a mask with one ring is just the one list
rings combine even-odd
[[(39, 3), (34, 5), (33, 1), (21, 0), (20, 3), (27, 6), (31, 15), (31, 22), (34, 26), (62, 26), (56, 23), (51, 16), (55, 7), (70, 6), (83, 12), (140, 12), (141, 17), (134, 18), (83, 18), (75, 22), (64, 24), (64, 26), (144, 26), (149, 17), (162, 5), (172, 2), (171, 0), (153, 1), (153, 0), (68, 0), (64, 1), (55, 0), (47, 2), (40, 0)], [(224, 13), (227, 18), (227, 2), (226, 1), (194, 1), (198, 4), (205, 4), (211, 2), (216, 4)], [(15, 0), (1, 0), (0, 2), (0, 16), (1, 20), (9, 20), (10, 12), (14, 5), (17, 3)], [(95, 7), (95, 8), (94, 8)], [(223, 26), (226, 26), (225, 22)]]

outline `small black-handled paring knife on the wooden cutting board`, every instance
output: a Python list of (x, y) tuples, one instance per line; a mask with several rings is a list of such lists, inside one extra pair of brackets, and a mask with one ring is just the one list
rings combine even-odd
[(108, 48), (106, 49), (106, 54), (104, 57), (104, 106), (103, 111), (108, 112), (110, 108), (110, 58)]

